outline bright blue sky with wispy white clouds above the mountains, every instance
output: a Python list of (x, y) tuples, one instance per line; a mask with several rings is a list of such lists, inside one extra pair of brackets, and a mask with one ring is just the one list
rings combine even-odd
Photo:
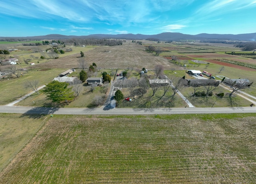
[(244, 34), (256, 0), (0, 0), (0, 36)]

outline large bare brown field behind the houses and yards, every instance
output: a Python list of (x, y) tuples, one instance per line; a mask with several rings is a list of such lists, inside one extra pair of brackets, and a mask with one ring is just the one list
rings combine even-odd
[[(177, 68), (164, 57), (155, 56), (144, 51), (144, 46), (125, 42), (121, 46), (102, 46), (84, 52), (84, 59), (87, 67), (96, 63), (98, 68), (147, 68), (154, 69), (156, 64), (163, 65), (165, 69)], [(44, 68), (76, 68), (78, 60), (81, 59), (80, 53), (52, 59), (47, 63), (38, 64), (37, 67)]]

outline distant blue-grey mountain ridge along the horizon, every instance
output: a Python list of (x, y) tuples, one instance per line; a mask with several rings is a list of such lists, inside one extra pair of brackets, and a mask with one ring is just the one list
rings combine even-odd
[(98, 38), (98, 39), (127, 39), (127, 40), (146, 40), (150, 38), (158, 39), (160, 41), (179, 41), (179, 40), (236, 40), (236, 41), (255, 41), (256, 33), (249, 34), (182, 34), (182, 33), (160, 33), (154, 35), (144, 34), (91, 34), (88, 36), (66, 36), (61, 34), (49, 34), (45, 36), (28, 36), (28, 37), (0, 37), (0, 40), (60, 40), (60, 39), (71, 39), (71, 38)]

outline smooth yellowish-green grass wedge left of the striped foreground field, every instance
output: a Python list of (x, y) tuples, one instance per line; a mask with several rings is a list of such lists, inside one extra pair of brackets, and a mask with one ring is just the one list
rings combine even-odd
[(44, 125), (44, 119), (44, 115), (28, 118), (19, 114), (0, 114), (0, 171), (36, 135)]

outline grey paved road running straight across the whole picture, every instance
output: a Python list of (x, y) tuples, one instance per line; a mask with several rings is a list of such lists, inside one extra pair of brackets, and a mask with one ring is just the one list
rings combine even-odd
[(218, 114), (218, 113), (256, 113), (256, 107), (215, 107), (215, 108), (158, 108), (158, 109), (127, 109), (106, 107), (83, 108), (45, 108), (0, 106), (0, 113), (20, 114), (62, 114), (62, 115), (160, 115), (160, 114)]

